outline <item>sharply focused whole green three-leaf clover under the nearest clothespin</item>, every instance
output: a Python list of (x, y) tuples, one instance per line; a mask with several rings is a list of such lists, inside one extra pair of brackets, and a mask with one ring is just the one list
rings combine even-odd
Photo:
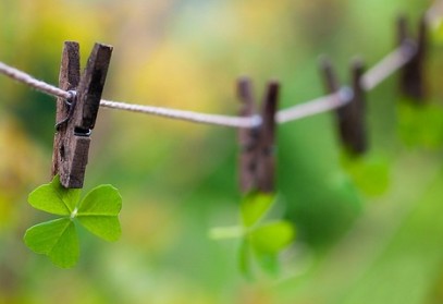
[(79, 256), (76, 221), (106, 241), (116, 241), (121, 235), (119, 212), (122, 198), (111, 185), (99, 185), (79, 200), (79, 190), (64, 189), (56, 177), (49, 184), (29, 194), (29, 204), (39, 210), (62, 218), (29, 228), (25, 244), (35, 253), (47, 255), (61, 267), (73, 267)]

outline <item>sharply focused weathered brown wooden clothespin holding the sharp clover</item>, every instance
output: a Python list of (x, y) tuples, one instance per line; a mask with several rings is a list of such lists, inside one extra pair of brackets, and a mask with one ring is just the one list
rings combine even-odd
[(71, 93), (70, 100), (57, 99), (52, 175), (67, 189), (83, 187), (88, 162), (90, 133), (95, 126), (112, 47), (96, 44), (81, 76), (79, 46), (64, 42), (59, 87)]

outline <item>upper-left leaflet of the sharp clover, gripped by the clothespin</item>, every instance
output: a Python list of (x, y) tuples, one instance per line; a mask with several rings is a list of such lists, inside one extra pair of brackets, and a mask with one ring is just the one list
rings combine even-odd
[(44, 184), (28, 196), (30, 206), (52, 215), (69, 216), (74, 211), (81, 191), (64, 189), (56, 175), (49, 184)]

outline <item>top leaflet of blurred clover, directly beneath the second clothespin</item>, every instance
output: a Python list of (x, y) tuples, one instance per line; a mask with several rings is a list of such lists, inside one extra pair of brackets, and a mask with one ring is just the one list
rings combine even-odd
[(251, 227), (257, 223), (271, 208), (274, 200), (274, 194), (260, 192), (248, 193), (241, 205), (243, 224), (245, 227)]

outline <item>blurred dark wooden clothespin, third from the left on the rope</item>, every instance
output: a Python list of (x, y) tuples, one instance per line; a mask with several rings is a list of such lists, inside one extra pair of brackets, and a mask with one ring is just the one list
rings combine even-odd
[[(321, 61), (324, 75), (324, 86), (329, 94), (339, 93), (341, 87), (331, 62)], [(364, 64), (360, 60), (352, 62), (353, 97), (349, 102), (336, 109), (339, 136), (352, 155), (362, 155), (367, 150), (366, 119), (365, 119), (365, 90), (361, 86)], [(340, 97), (337, 97), (340, 98)]]

